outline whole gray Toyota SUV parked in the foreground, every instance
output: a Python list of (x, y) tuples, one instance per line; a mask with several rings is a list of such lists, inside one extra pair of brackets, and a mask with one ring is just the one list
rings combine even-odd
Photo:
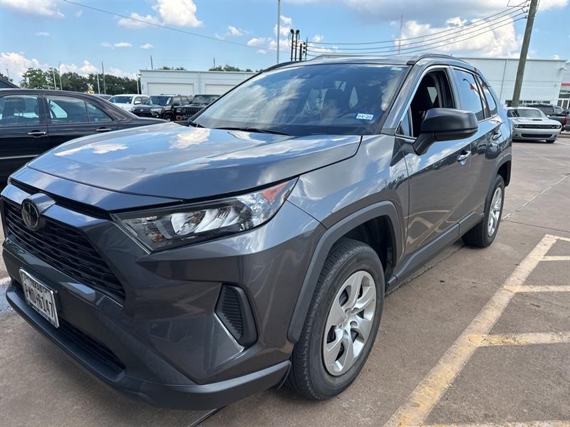
[(187, 127), (75, 139), (14, 173), (6, 297), (151, 404), (284, 382), (330, 398), (363, 368), (388, 292), (457, 238), (497, 236), (511, 144), (462, 60), (276, 65)]

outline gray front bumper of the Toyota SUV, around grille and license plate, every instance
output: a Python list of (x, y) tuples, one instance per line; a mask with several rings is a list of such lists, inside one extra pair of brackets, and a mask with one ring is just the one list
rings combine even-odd
[[(47, 179), (29, 170), (19, 178), (30, 175)], [(82, 194), (82, 184), (77, 185), (76, 194)], [(28, 194), (9, 185), (2, 203), (19, 204)], [(324, 231), (304, 211), (286, 202), (269, 223), (247, 233), (150, 255), (108, 219), (58, 201), (43, 216), (86, 236), (122, 283), (124, 300), (62, 273), (10, 233), (3, 253), (12, 279), (6, 297), (105, 383), (150, 404), (198, 409), (242, 399), (286, 375), (293, 348), (287, 330), (310, 255)], [(51, 326), (26, 304), (19, 287), (21, 268), (56, 291), (63, 328)], [(240, 345), (217, 315), (220, 291), (227, 285), (247, 295), (254, 344)]]

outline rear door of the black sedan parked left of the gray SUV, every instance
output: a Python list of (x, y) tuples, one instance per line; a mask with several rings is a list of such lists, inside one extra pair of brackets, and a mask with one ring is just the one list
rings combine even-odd
[(107, 113), (81, 97), (46, 95), (48, 132), (51, 147), (70, 139), (117, 129)]

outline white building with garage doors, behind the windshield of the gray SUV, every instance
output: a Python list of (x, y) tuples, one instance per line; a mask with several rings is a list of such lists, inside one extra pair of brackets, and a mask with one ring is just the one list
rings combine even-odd
[(140, 70), (145, 95), (222, 95), (255, 73), (233, 71)]

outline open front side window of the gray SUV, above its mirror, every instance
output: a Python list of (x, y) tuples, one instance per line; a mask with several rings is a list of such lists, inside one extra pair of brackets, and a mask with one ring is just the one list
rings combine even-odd
[(455, 108), (445, 70), (432, 71), (422, 78), (410, 107), (400, 122), (398, 135), (417, 138), (425, 113), (432, 108)]

